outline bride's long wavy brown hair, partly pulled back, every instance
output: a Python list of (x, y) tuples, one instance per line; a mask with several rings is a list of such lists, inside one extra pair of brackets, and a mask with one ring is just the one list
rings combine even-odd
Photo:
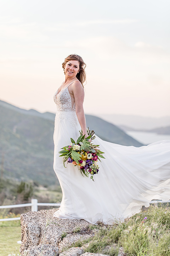
[[(64, 70), (64, 74), (65, 73), (65, 65), (67, 62), (69, 62), (70, 60), (78, 60), (79, 62), (79, 73), (77, 73), (77, 79), (81, 82), (81, 84), (83, 85), (83, 83), (86, 80), (86, 72), (85, 72), (85, 67), (86, 64), (84, 63), (83, 59), (81, 58), (81, 56), (77, 55), (77, 54), (70, 54), (68, 55), (67, 58), (64, 59), (64, 62), (62, 63), (62, 68)], [(83, 86), (84, 87), (84, 86)]]

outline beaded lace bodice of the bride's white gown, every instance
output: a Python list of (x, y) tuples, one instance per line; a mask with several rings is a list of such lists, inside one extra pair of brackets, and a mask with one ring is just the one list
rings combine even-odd
[(68, 86), (59, 93), (57, 90), (54, 95), (54, 102), (57, 106), (56, 119), (57, 122), (60, 122), (62, 119), (68, 120), (71, 126), (74, 127), (78, 124), (78, 119), (75, 113), (75, 103), (72, 108), (72, 98), (69, 94)]

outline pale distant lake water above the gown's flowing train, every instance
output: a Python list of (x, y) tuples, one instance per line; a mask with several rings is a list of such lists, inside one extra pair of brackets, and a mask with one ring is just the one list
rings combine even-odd
[(164, 134), (157, 134), (157, 133), (150, 133), (150, 132), (134, 132), (134, 131), (127, 131), (126, 132), (132, 138), (138, 140), (142, 144), (148, 145), (153, 142), (157, 142), (159, 140), (170, 140), (170, 135)]

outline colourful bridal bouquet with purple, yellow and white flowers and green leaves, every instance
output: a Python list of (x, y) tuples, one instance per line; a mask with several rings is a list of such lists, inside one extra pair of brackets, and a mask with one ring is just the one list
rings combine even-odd
[[(69, 146), (64, 146), (59, 153), (63, 157), (63, 164), (67, 161), (72, 163), (74, 166), (80, 166), (79, 170), (81, 174), (89, 177), (94, 181), (93, 175), (98, 173), (99, 166), (97, 161), (101, 161), (100, 158), (104, 158), (102, 154), (104, 152), (99, 150), (99, 145), (94, 145), (91, 141), (96, 137), (94, 136), (94, 131), (87, 129), (87, 134), (89, 135), (86, 139), (84, 138), (82, 130), (80, 132), (80, 137), (77, 142), (71, 139), (72, 144)], [(66, 167), (64, 165), (64, 167)]]

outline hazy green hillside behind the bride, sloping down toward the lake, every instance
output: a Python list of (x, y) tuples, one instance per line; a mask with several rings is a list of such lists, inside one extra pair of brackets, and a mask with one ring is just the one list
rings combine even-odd
[[(34, 180), (42, 185), (58, 185), (53, 171), (54, 118), (53, 113), (22, 110), (0, 101), (0, 165), (4, 169), (1, 175)], [(142, 145), (101, 118), (86, 115), (86, 119), (87, 126), (104, 140)]]

